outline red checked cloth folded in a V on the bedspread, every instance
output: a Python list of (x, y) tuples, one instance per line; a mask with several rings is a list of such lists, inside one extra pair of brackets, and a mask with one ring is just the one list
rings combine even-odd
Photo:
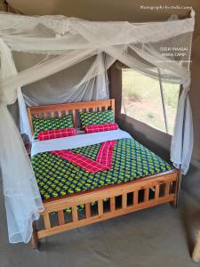
[(96, 173), (99, 171), (106, 171), (112, 167), (115, 144), (116, 140), (102, 142), (96, 161), (69, 150), (54, 150), (51, 151), (51, 153), (72, 162), (76, 166), (82, 167), (90, 173)]

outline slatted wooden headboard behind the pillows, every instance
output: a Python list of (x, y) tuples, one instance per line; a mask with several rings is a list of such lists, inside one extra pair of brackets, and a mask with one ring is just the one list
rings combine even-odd
[(87, 101), (68, 104), (56, 104), (47, 106), (36, 106), (28, 108), (28, 120), (32, 134), (34, 134), (32, 117), (61, 117), (71, 114), (76, 127), (78, 119), (78, 111), (101, 111), (113, 109), (115, 114), (115, 100)]

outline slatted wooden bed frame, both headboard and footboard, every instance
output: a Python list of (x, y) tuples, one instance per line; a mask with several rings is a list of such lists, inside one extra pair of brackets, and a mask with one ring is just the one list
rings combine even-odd
[[(115, 112), (115, 100), (113, 99), (38, 106), (28, 108), (28, 119), (33, 133), (32, 117), (61, 117), (63, 114), (72, 114), (74, 124), (76, 125), (77, 112), (79, 110), (96, 111), (110, 108)], [(40, 239), (53, 234), (101, 222), (123, 214), (129, 214), (150, 206), (157, 206), (167, 202), (175, 206), (179, 174), (179, 170), (174, 169), (132, 182), (108, 185), (100, 189), (87, 190), (64, 197), (44, 200), (44, 213), (41, 214), (44, 227), (38, 230), (36, 223), (33, 223), (32, 247), (38, 249)], [(152, 191), (154, 191), (153, 198)], [(108, 199), (108, 208), (104, 206), (104, 199), (106, 198)], [(128, 203), (128, 198), (132, 199), (131, 203), (130, 201)], [(98, 206), (96, 214), (92, 214), (93, 202), (96, 202)], [(77, 211), (77, 206), (79, 205), (84, 205), (84, 217), (83, 215), (80, 216)], [(71, 208), (71, 219), (69, 222), (66, 220), (65, 214), (67, 207)], [(57, 225), (52, 225), (52, 212), (58, 218)]]

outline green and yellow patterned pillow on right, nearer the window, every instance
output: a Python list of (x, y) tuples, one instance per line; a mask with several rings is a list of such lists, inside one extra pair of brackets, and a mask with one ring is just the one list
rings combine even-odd
[(99, 112), (79, 112), (79, 115), (82, 129), (88, 125), (103, 125), (115, 122), (112, 109)]

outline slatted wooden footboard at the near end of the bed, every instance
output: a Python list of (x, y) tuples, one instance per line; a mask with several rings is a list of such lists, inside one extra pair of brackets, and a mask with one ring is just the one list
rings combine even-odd
[[(44, 213), (41, 214), (44, 228), (36, 230), (35, 225), (32, 244), (36, 247), (40, 239), (53, 234), (129, 214), (150, 206), (167, 202), (174, 204), (177, 196), (178, 179), (179, 171), (172, 170), (138, 181), (85, 191), (67, 198), (44, 201)], [(104, 205), (105, 199), (107, 199), (107, 207)], [(92, 203), (94, 202), (97, 202), (96, 213), (92, 212)], [(77, 206), (80, 205), (84, 205), (82, 212), (77, 210)], [(66, 208), (71, 209), (70, 220), (66, 219)], [(54, 223), (52, 225), (52, 212), (54, 212), (54, 216), (58, 216), (57, 225)]]

